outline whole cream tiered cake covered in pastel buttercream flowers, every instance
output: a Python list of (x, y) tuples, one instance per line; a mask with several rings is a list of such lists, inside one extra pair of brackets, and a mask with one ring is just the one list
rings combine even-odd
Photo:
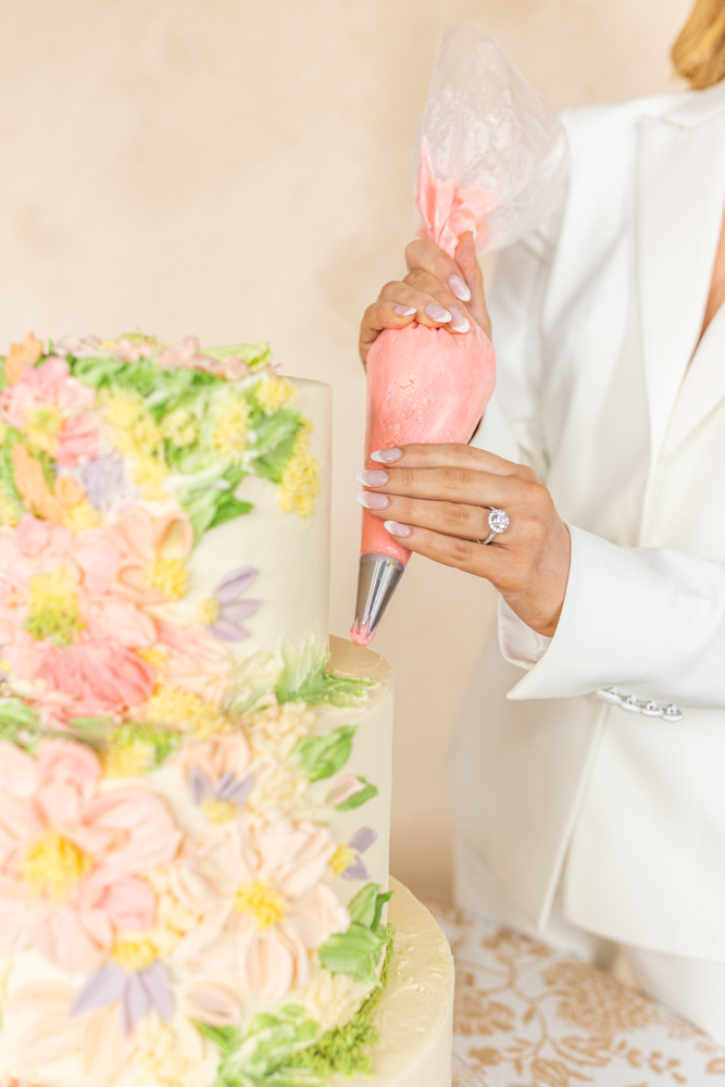
[(329, 655), (329, 389), (140, 335), (0, 386), (0, 1087), (445, 1087), (389, 670)]

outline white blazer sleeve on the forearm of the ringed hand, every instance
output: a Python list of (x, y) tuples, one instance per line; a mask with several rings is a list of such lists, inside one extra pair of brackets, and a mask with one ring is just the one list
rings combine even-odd
[(508, 697), (614, 686), (658, 702), (725, 708), (725, 569), (568, 528), (572, 565), (557, 633), (538, 660), (529, 651), (517, 662), (533, 666)]

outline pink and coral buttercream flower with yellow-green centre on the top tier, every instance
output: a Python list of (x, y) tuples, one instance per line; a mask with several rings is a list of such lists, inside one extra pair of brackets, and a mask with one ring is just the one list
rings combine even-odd
[(157, 622), (114, 594), (121, 561), (102, 529), (74, 536), (32, 516), (0, 529), (2, 652), (59, 713), (121, 713), (153, 690), (157, 670), (139, 653), (157, 644)]

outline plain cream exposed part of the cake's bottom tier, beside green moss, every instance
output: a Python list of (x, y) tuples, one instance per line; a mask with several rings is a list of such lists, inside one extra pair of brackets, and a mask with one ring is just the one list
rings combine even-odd
[(372, 1019), (375, 1075), (338, 1076), (335, 1087), (450, 1087), (453, 957), (432, 913), (397, 879), (390, 887), (393, 955)]

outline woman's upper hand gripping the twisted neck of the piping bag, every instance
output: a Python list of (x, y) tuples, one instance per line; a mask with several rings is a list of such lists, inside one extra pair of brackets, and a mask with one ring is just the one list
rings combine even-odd
[(470, 317), (473, 317), (490, 336), (484, 277), (471, 232), (462, 236), (455, 260), (430, 241), (415, 240), (405, 250), (405, 278), (386, 284), (377, 302), (368, 305), (363, 314), (360, 327), (363, 364), (384, 328), (404, 328), (413, 321), (428, 328), (466, 333)]

